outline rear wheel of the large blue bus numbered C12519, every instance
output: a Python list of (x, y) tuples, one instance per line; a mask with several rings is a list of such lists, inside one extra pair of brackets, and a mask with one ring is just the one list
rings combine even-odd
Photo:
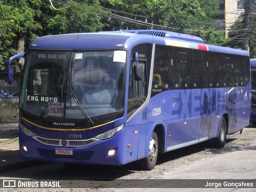
[(216, 148), (224, 148), (226, 144), (226, 137), (227, 137), (227, 124), (226, 124), (225, 118), (222, 118), (220, 123), (219, 136), (212, 140), (214, 146)]

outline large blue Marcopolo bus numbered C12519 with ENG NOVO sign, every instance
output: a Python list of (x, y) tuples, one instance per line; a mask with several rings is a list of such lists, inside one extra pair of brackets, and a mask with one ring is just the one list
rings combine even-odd
[[(24, 159), (152, 170), (159, 153), (226, 136), (250, 121), (248, 52), (164, 30), (37, 38), (20, 87)], [(12, 68), (9, 66), (9, 81)]]

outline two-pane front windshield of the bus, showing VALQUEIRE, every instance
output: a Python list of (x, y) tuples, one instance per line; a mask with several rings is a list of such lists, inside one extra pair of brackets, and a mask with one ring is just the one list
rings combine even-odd
[(30, 50), (20, 107), (41, 117), (60, 118), (120, 112), (124, 108), (125, 69), (125, 50)]

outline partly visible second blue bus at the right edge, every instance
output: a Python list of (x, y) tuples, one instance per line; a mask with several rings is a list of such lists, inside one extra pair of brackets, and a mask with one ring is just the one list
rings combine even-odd
[(256, 59), (250, 59), (251, 62), (251, 78), (252, 78), (252, 100), (250, 121), (256, 125)]

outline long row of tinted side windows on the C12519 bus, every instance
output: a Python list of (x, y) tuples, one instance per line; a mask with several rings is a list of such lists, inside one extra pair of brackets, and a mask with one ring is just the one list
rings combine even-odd
[(156, 45), (151, 96), (170, 89), (245, 86), (248, 66), (246, 56)]

